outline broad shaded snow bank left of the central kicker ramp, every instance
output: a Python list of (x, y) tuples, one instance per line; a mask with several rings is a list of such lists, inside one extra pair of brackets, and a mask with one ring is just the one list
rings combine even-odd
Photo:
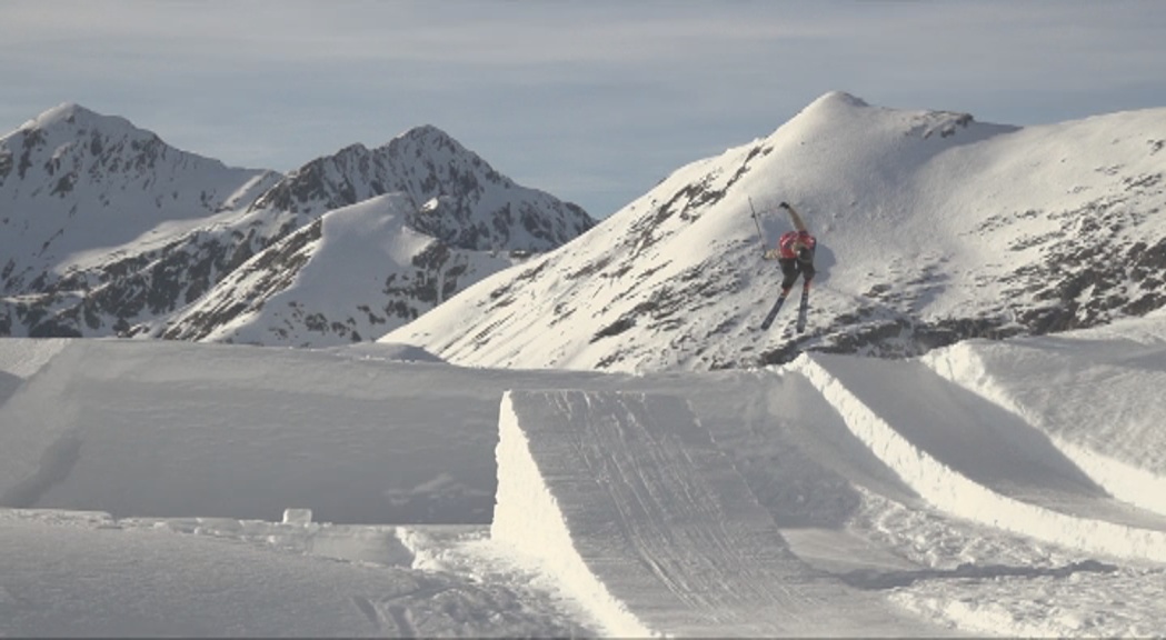
[[(494, 445), (501, 389), (477, 389), (465, 372), (386, 363), (392, 347), (62, 343), (0, 403), (0, 506), (268, 521), (295, 507), (338, 523), (490, 522), (494, 465), (482, 452)], [(61, 346), (0, 344), (3, 363)], [(428, 408), (434, 394), (444, 410)]]

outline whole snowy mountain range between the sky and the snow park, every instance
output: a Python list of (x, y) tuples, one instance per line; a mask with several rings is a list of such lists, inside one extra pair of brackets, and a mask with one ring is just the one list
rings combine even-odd
[[(156, 147), (124, 119), (110, 117), (96, 146), (54, 138), (66, 125), (90, 135), (89, 113), (61, 105), (0, 139), (0, 198), (55, 203), (47, 216), (0, 220), (24, 230), (0, 239), (0, 333), (375, 338), (471, 366), (634, 372), (803, 351), (913, 356), (1166, 304), (1166, 110), (1017, 127), (833, 91), (767, 136), (677, 168), (599, 224), (431, 125), (285, 175), (206, 160), (231, 180), (191, 196), (177, 178), (134, 171), (160, 159), (178, 171), (198, 156)], [(133, 153), (103, 163), (94, 148)], [(114, 161), (121, 189), (86, 191), (93, 167)], [(51, 187), (64, 174), (78, 180), (62, 196)], [(159, 184), (169, 191), (126, 187)], [(63, 251), (84, 245), (62, 224), (80, 219), (61, 204), (76, 208), (73, 191), (147, 211), (135, 211), (133, 233), (121, 230), (128, 240)], [(775, 295), (777, 267), (760, 254), (789, 226), (782, 201), (819, 237), (805, 335), (782, 318), (756, 328)]]

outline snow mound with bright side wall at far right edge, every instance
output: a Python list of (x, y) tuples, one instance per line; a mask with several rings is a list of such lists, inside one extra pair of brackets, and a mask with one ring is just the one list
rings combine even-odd
[(1006, 343), (962, 343), (923, 359), (1020, 416), (1119, 500), (1166, 514), (1166, 344), (1160, 318)]

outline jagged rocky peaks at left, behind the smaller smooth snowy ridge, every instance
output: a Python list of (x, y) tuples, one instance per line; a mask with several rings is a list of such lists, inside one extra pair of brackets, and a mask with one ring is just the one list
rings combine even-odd
[[(577, 205), (515, 184), (431, 125), (281, 175), (230, 168), (124, 118), (64, 103), (0, 138), (0, 202), (12, 202), (0, 227), (15, 230), (0, 237), (0, 335), (208, 335), (212, 328), (189, 326), (189, 314), (187, 326), (168, 331), (169, 317), (328, 211), (391, 192), (407, 194), (408, 224), (454, 252), (538, 253), (595, 224)], [(444, 269), (450, 252), (433, 255), (394, 268)], [(443, 287), (456, 290), (504, 266), (476, 265)], [(374, 288), (359, 302), (389, 305), (393, 314), (379, 312), (394, 318), (389, 324), (433, 303), (408, 297)], [(279, 336), (265, 339), (282, 344)]]

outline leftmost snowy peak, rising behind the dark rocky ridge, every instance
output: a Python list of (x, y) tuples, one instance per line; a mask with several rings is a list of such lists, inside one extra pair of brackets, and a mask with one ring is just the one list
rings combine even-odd
[[(0, 138), (0, 293), (34, 293), (128, 244), (157, 247), (274, 182), (175, 149), (119, 117), (59, 105)], [(108, 260), (108, 256), (106, 256)]]

